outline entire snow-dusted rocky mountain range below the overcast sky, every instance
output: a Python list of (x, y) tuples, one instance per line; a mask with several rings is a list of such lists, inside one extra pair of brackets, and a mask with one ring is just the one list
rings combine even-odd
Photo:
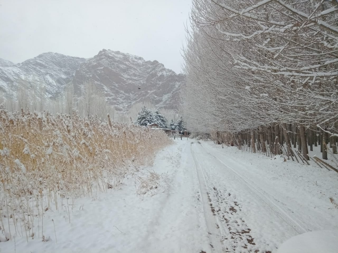
[[(8, 64), (7, 64), (8, 65)], [(101, 50), (92, 58), (78, 58), (58, 53), (43, 53), (19, 64), (0, 64), (0, 87), (15, 87), (25, 78), (44, 84), (47, 95), (57, 97), (72, 83), (80, 95), (84, 82), (93, 82), (109, 104), (127, 112), (135, 104), (150, 101), (158, 108), (178, 109), (179, 89), (185, 75), (176, 74), (158, 61), (119, 51)]]

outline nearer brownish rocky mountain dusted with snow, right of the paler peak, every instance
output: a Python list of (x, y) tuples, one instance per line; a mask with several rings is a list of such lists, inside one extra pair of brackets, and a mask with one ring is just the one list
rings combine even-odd
[(177, 109), (184, 79), (183, 74), (177, 75), (156, 60), (103, 49), (81, 64), (74, 84), (78, 90), (84, 80), (92, 80), (107, 101), (122, 111), (146, 100), (159, 108)]

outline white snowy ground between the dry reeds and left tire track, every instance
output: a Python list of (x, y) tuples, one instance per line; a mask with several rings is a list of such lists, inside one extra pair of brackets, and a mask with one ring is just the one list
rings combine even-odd
[[(152, 167), (126, 175), (117, 191), (97, 192), (74, 203), (70, 198), (69, 213), (67, 208), (47, 210), (43, 233), (50, 237), (48, 242), (42, 242), (41, 228), (40, 238), (35, 228), (36, 236), (28, 243), (25, 236), (17, 236), (16, 242), (0, 243), (0, 248), (33, 253), (200, 252), (210, 248), (203, 207), (196, 198), (196, 171), (187, 159), (188, 142), (177, 141), (159, 153)], [(145, 190), (140, 178), (152, 170), (159, 174), (152, 182), (158, 187)]]

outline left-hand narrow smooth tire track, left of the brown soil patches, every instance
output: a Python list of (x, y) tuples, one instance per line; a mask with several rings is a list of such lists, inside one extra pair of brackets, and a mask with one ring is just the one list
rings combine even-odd
[(224, 250), (222, 249), (221, 237), (219, 235), (219, 230), (215, 226), (215, 219), (213, 217), (213, 213), (212, 213), (212, 210), (209, 204), (210, 197), (207, 191), (208, 189), (207, 181), (204, 176), (203, 170), (196, 159), (195, 152), (192, 148), (192, 143), (190, 144), (190, 150), (191, 150), (191, 154), (194, 159), (194, 163), (195, 163), (195, 167), (197, 171), (197, 177), (198, 177), (200, 193), (201, 193), (201, 200), (203, 203), (204, 218), (206, 219), (206, 224), (207, 224), (207, 228), (209, 231), (208, 233), (209, 233), (211, 250), (212, 252), (222, 253), (224, 252)]

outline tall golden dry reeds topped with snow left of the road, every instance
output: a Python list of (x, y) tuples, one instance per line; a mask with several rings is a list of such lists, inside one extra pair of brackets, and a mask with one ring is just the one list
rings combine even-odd
[(102, 122), (75, 112), (10, 113), (1, 105), (0, 241), (43, 238), (44, 212), (69, 213), (74, 198), (119, 187), (169, 143), (163, 132), (111, 122), (109, 115)]

